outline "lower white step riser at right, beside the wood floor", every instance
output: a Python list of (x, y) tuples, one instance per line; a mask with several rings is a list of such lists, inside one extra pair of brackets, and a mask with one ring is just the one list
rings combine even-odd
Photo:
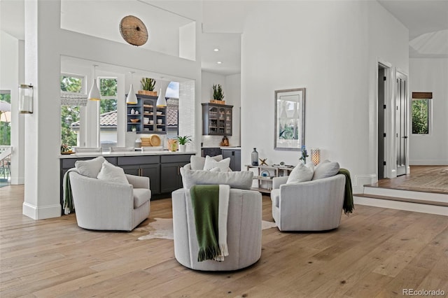
[(446, 206), (415, 204), (415, 203), (409, 203), (407, 201), (390, 201), (386, 199), (372, 199), (368, 197), (356, 197), (356, 195), (353, 196), (353, 201), (355, 203), (355, 210), (356, 210), (356, 204), (359, 204), (366, 206), (391, 208), (405, 211), (414, 211), (414, 212), (448, 216), (448, 207)]

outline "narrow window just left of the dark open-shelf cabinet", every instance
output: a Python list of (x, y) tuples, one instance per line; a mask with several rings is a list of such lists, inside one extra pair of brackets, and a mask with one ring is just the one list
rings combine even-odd
[(98, 77), (99, 94), (99, 143), (103, 150), (117, 146), (118, 129), (118, 78)]

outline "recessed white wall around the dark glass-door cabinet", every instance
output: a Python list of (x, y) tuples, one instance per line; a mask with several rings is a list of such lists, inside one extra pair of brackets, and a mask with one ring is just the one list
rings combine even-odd
[[(213, 99), (213, 85), (220, 84), (223, 87), (225, 104), (233, 106), (232, 116), (232, 136), (228, 136), (230, 146), (239, 146), (239, 107), (241, 105), (241, 75), (223, 76), (218, 73), (202, 71), (202, 92), (201, 101), (207, 103)], [(197, 123), (201, 124), (202, 114)], [(219, 147), (223, 136), (202, 136), (204, 147)]]

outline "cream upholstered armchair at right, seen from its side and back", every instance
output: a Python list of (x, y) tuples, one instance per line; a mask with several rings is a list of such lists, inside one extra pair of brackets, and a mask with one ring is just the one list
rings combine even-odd
[(272, 217), (281, 231), (325, 231), (339, 227), (345, 176), (337, 174), (299, 183), (272, 179)]

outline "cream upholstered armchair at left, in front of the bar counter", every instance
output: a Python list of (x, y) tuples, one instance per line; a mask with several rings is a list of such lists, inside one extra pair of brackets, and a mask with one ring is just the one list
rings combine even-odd
[(131, 231), (148, 218), (148, 177), (126, 174), (130, 184), (123, 184), (83, 176), (76, 169), (67, 174), (79, 227)]

